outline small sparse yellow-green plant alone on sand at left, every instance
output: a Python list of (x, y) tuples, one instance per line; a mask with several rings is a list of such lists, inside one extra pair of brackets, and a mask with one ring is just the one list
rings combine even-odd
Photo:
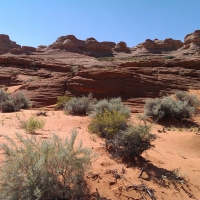
[(43, 129), (44, 126), (45, 121), (34, 116), (31, 116), (27, 120), (20, 121), (20, 127), (31, 134), (34, 134), (36, 130)]

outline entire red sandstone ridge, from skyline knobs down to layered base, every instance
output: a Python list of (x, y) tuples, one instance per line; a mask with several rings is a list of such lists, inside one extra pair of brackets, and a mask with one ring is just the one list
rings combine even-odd
[(146, 40), (131, 49), (124, 42), (82, 41), (73, 35), (49, 46), (21, 47), (1, 35), (0, 85), (18, 85), (35, 107), (55, 104), (61, 95), (93, 93), (121, 96), (133, 111), (141, 111), (146, 98), (200, 88), (199, 33), (188, 34), (184, 42)]

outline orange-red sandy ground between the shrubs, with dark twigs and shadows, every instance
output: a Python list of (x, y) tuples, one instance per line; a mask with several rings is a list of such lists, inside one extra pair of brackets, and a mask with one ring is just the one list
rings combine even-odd
[[(15, 137), (15, 133), (26, 134), (19, 128), (19, 118), (27, 119), (38, 110), (22, 110), (17, 113), (0, 113), (0, 144), (3, 135)], [(47, 111), (45, 128), (37, 131), (37, 137), (49, 137), (51, 133), (69, 137), (76, 128), (78, 140), (93, 150), (97, 158), (86, 174), (91, 192), (104, 199), (155, 199), (187, 200), (200, 199), (200, 135), (194, 127), (190, 129), (154, 124), (152, 133), (157, 135), (155, 148), (146, 151), (141, 158), (117, 161), (106, 152), (103, 139), (87, 130), (89, 117), (68, 116), (62, 111)], [(195, 120), (199, 121), (200, 116)], [(136, 115), (132, 115), (137, 123)], [(0, 150), (0, 153), (2, 151)], [(0, 156), (2, 161), (3, 156)], [(141, 169), (144, 172), (138, 178)], [(148, 191), (139, 185), (145, 185)], [(135, 188), (133, 186), (137, 185)], [(137, 188), (137, 189), (136, 189)]]

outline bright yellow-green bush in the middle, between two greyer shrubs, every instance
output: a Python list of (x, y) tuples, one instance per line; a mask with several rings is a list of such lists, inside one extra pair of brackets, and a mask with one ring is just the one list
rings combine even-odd
[(120, 130), (127, 127), (128, 116), (116, 110), (109, 111), (104, 109), (98, 115), (92, 117), (88, 126), (91, 133), (97, 133), (102, 137), (112, 138)]

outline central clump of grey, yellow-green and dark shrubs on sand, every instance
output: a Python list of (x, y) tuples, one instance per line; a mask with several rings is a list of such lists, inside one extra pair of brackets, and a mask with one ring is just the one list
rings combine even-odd
[(121, 98), (99, 101), (90, 116), (89, 131), (104, 137), (107, 150), (114, 156), (137, 157), (153, 147), (155, 135), (150, 133), (150, 126), (128, 124), (130, 110)]

